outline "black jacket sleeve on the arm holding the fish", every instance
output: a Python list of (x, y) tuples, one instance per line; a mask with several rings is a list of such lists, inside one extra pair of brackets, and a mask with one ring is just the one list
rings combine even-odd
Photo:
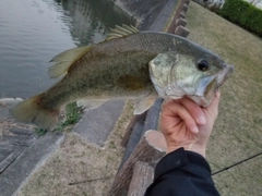
[(145, 196), (217, 196), (206, 160), (179, 148), (166, 155), (155, 168), (154, 182)]

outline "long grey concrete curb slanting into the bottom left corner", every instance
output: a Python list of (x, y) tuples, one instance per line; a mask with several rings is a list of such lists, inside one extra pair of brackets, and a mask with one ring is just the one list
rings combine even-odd
[(35, 140), (15, 161), (0, 174), (1, 196), (13, 195), (26, 182), (29, 174), (44, 164), (63, 139), (62, 133), (48, 133)]

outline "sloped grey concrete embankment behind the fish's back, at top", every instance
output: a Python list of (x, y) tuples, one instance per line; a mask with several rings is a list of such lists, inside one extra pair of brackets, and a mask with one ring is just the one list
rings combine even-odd
[[(186, 26), (186, 12), (190, 0), (117, 0), (116, 3), (138, 21), (141, 30), (175, 33)], [(181, 35), (181, 33), (178, 33)], [(182, 35), (184, 36), (184, 35)], [(187, 37), (187, 35), (184, 36)]]

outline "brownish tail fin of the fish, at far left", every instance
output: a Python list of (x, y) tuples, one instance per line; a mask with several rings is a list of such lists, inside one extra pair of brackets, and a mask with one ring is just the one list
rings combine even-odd
[(13, 118), (20, 122), (33, 123), (45, 130), (52, 130), (58, 123), (59, 110), (48, 110), (39, 105), (39, 97), (35, 96), (20, 102), (10, 109)]

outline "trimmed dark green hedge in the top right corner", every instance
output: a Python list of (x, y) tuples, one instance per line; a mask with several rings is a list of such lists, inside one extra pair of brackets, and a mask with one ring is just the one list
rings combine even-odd
[(226, 0), (219, 14), (262, 37), (262, 10), (243, 0)]

